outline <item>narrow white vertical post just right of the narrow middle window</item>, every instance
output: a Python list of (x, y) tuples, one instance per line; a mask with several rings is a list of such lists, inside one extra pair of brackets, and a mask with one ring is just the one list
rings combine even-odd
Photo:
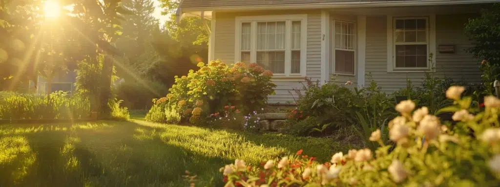
[(364, 67), (366, 54), (366, 15), (357, 16), (357, 87), (364, 84)]

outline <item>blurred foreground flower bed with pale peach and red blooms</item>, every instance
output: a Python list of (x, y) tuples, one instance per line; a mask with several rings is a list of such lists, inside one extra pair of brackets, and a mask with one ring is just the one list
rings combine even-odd
[[(445, 95), (453, 105), (439, 112), (453, 112), (456, 124), (441, 124), (426, 107), (415, 110), (411, 100), (395, 106), (399, 116), (389, 122), (389, 139), (371, 133), (379, 146), (336, 153), (328, 163), (314, 167), (313, 159), (300, 156), (269, 160), (263, 167), (244, 161), (220, 169), (226, 187), (276, 186), (497, 186), (500, 184), (500, 100), (484, 98), (484, 110), (470, 107), (471, 97), (461, 98), (463, 87), (452, 86)], [(477, 114), (473, 114), (477, 112)], [(474, 136), (469, 136), (473, 134)]]

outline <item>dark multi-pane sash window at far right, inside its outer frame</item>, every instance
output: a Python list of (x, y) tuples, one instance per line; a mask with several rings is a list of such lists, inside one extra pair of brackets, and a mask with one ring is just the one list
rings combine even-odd
[(427, 68), (427, 18), (394, 18), (395, 68)]

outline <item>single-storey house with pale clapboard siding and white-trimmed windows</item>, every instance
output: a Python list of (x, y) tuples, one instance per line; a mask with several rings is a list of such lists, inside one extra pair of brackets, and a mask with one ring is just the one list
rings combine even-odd
[(272, 70), (277, 87), (268, 102), (283, 104), (305, 76), (363, 87), (371, 73), (387, 93), (406, 78), (419, 85), (433, 68), (439, 77), (480, 83), (464, 23), (498, 1), (181, 0), (176, 14), (211, 20), (209, 60)]

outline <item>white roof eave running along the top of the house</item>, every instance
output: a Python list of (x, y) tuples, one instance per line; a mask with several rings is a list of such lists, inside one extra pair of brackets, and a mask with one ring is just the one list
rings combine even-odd
[(177, 21), (184, 16), (198, 16), (211, 19), (212, 11), (251, 11), (251, 10), (282, 10), (282, 9), (314, 9), (314, 8), (355, 8), (355, 7), (390, 7), (390, 6), (425, 6), (425, 5), (456, 5), (492, 3), (498, 0), (391, 0), (391, 1), (347, 1), (324, 3), (297, 4), (265, 4), (245, 6), (200, 6), (182, 7), (182, 1), (177, 8)]

